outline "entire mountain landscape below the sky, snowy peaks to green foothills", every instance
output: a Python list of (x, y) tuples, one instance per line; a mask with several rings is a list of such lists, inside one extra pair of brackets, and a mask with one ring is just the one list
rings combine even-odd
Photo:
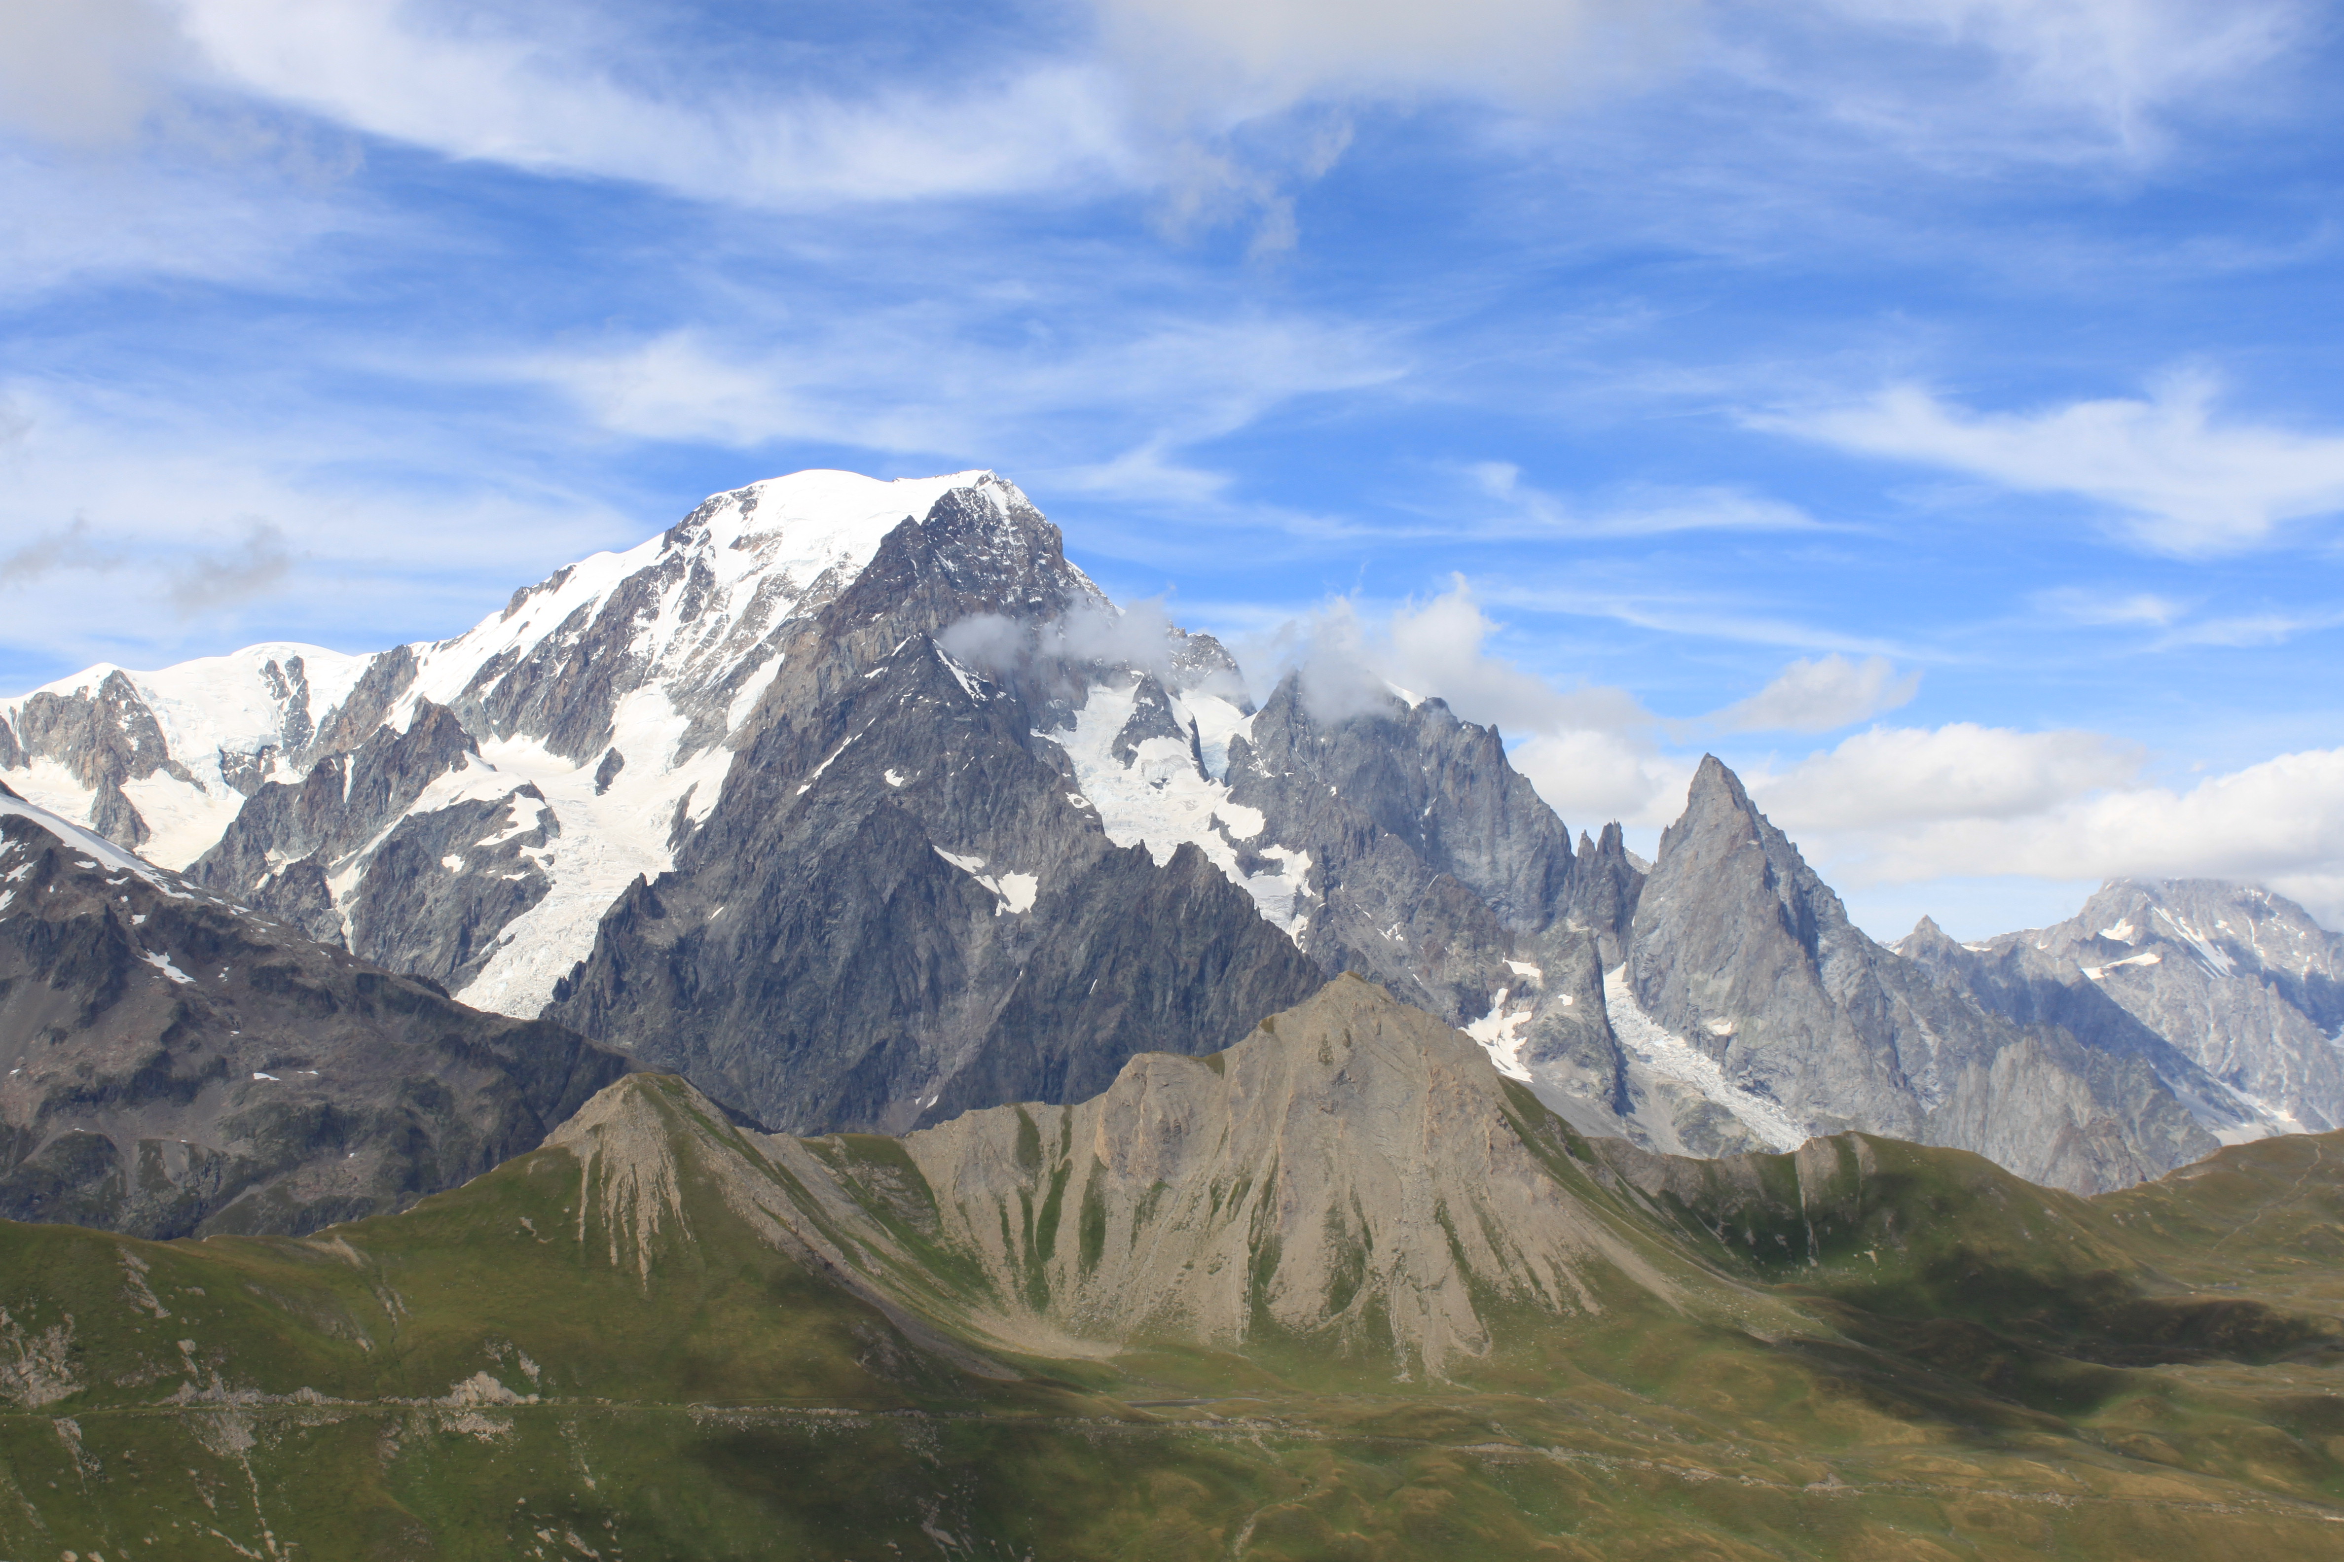
[(0, 1555), (2344, 1543), (2344, 939), (1247, 688), (813, 471), (0, 703)]

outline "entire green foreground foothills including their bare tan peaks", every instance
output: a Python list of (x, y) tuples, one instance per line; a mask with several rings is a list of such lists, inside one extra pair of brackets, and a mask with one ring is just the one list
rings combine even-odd
[(0, 1555), (2335, 1557), (2344, 1136), (1589, 1138), (1341, 977), (1078, 1105), (673, 1075), (307, 1236), (0, 1225)]

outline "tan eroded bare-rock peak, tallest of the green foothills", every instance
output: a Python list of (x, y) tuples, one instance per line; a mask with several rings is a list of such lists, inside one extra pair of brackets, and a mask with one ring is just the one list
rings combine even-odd
[(1345, 974), (1219, 1056), (1139, 1056), (1095, 1101), (970, 1112), (905, 1150), (947, 1239), (1076, 1335), (1317, 1335), (1439, 1372), (1488, 1351), (1486, 1297), (1671, 1293), (1559, 1187), (1561, 1124), (1517, 1089)]

